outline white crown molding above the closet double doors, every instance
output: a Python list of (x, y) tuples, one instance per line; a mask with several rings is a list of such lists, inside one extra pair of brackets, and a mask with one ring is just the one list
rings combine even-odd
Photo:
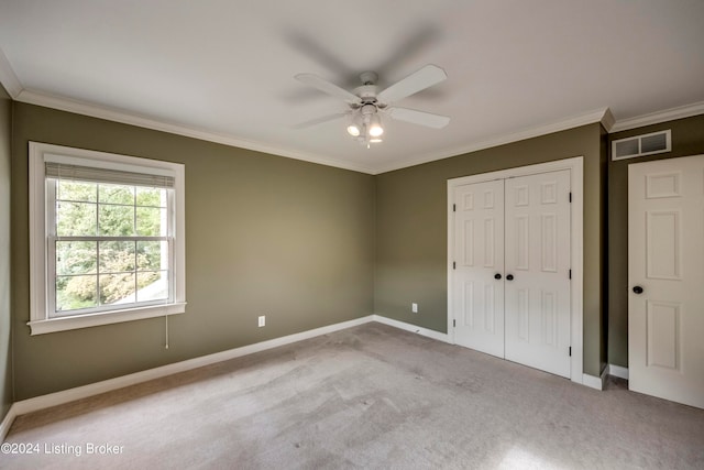
[(528, 128), (522, 131), (514, 132), (510, 134), (491, 138), (480, 142), (474, 142), (466, 146), (447, 149), (440, 152), (428, 153), (426, 155), (419, 156), (418, 159), (406, 160), (403, 163), (396, 163), (396, 164), (384, 166), (377, 170), (374, 174), (377, 175), (381, 173), (406, 168), (408, 166), (415, 166), (424, 163), (435, 162), (436, 160), (449, 159), (451, 156), (458, 156), (458, 155), (463, 155), (465, 153), (477, 152), (480, 150), (491, 149), (494, 146), (505, 145), (508, 143), (518, 142), (526, 139), (532, 139), (540, 135), (551, 134), (553, 132), (560, 132), (560, 131), (565, 131), (568, 129), (579, 128), (580, 125), (594, 124), (596, 122), (601, 122), (602, 124), (604, 124), (604, 127), (606, 127), (607, 123), (604, 122), (604, 119), (607, 116), (610, 116), (609, 109), (602, 108), (602, 109), (586, 112), (584, 114), (551, 122), (549, 124), (537, 125), (537, 127)]

